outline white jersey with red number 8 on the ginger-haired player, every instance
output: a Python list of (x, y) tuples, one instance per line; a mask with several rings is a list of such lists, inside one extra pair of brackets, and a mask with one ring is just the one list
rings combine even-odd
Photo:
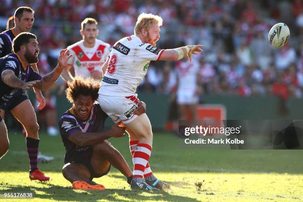
[(125, 37), (112, 47), (100, 95), (133, 96), (146, 75), (151, 60), (158, 60), (164, 50), (142, 43), (135, 35)]

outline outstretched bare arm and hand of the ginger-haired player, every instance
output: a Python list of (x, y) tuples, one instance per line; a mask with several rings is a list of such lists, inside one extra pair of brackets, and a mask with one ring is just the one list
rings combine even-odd
[(179, 60), (185, 55), (188, 56), (189, 61), (192, 61), (192, 54), (198, 54), (202, 52), (203, 45), (185, 46), (176, 49), (166, 49), (161, 54), (159, 60)]

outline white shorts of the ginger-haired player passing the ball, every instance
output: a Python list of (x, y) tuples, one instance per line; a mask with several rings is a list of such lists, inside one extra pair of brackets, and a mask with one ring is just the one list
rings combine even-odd
[(138, 108), (139, 99), (137, 94), (128, 97), (103, 96), (99, 94), (99, 104), (102, 110), (113, 120), (114, 123), (130, 123), (137, 115), (133, 111)]

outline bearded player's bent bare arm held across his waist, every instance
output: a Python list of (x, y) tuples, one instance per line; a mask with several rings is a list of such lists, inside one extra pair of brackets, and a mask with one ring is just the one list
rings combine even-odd
[(16, 77), (15, 73), (12, 70), (4, 70), (1, 73), (1, 80), (7, 85), (12, 88), (19, 88), (23, 90), (27, 90), (31, 87), (33, 87), (35, 84), (37, 84), (40, 81), (30, 81), (30, 82), (24, 82), (18, 77)]

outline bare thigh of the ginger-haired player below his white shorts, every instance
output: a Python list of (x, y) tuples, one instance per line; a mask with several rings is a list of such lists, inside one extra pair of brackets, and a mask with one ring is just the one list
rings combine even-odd
[(130, 129), (137, 137), (152, 136), (152, 125), (146, 113), (138, 116), (132, 122), (126, 123), (125, 127)]

